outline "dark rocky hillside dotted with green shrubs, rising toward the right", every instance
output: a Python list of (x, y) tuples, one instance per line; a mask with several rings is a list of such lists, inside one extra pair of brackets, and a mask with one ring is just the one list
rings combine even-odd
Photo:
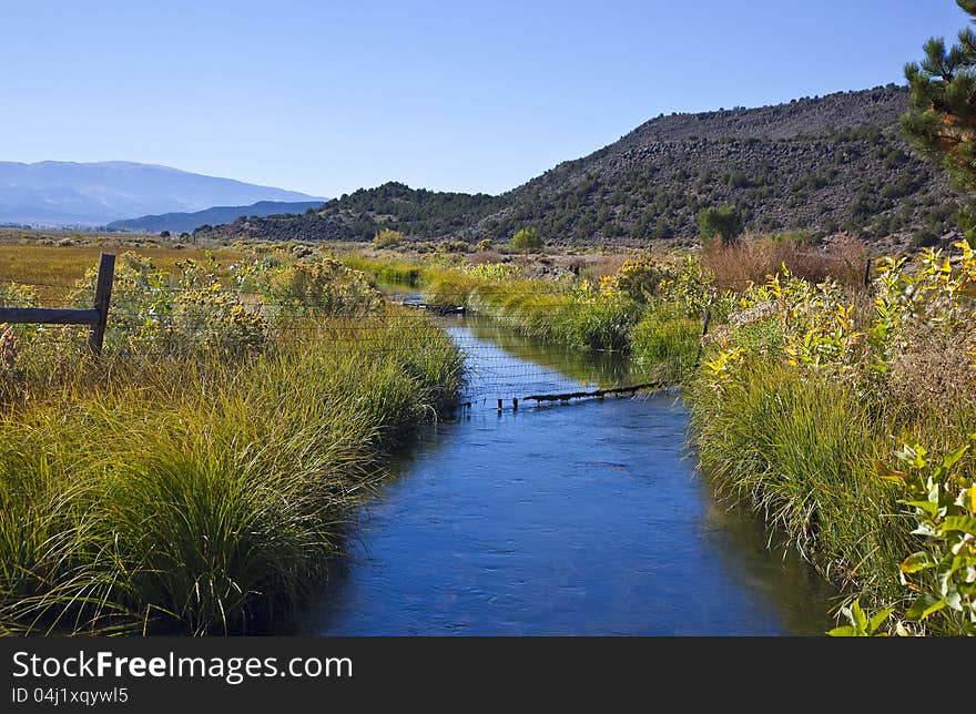
[(897, 118), (907, 89), (888, 85), (758, 109), (653, 119), (619, 141), (500, 196), (360, 190), (314, 215), (238, 221), (218, 237), (369, 239), (393, 227), (417, 239), (507, 238), (535, 225), (550, 243), (692, 239), (695, 214), (733, 203), (748, 227), (892, 234), (931, 242), (957, 197), (916, 157)]

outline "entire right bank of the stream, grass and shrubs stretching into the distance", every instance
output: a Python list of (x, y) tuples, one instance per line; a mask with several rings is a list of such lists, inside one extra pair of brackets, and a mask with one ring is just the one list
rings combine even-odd
[(866, 289), (850, 245), (819, 263), (776, 247), (802, 275), (749, 273), (772, 251), (735, 249), (631, 259), (599, 286), (502, 265), (431, 271), (426, 296), (681, 381), (720, 496), (758, 511), (845, 602), (891, 608), (887, 630), (972, 631), (976, 255), (958, 244), (886, 258)]

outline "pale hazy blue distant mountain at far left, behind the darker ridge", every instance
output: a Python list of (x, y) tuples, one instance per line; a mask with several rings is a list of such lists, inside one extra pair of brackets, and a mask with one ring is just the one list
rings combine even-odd
[(126, 161), (0, 162), (0, 222), (104, 225), (131, 216), (258, 201), (311, 201), (295, 191)]

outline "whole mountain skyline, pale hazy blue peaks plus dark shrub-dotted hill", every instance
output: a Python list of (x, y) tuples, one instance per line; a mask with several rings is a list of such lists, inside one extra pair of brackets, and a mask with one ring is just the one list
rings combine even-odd
[(304, 241), (368, 241), (384, 227), (417, 241), (507, 241), (532, 225), (550, 243), (644, 245), (694, 239), (701, 208), (734, 204), (755, 231), (934, 243), (954, 227), (959, 197), (902, 139), (906, 104), (907, 89), (889, 84), (660, 115), (500, 195), (390, 182), (323, 204), (165, 166), (0, 162), (0, 223)]

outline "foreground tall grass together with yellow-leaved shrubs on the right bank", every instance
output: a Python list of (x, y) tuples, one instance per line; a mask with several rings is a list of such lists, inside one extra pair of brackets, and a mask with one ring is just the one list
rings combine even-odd
[(719, 489), (903, 631), (976, 616), (974, 287), (965, 244), (880, 262), (870, 293), (777, 274), (736, 297), (689, 392)]

